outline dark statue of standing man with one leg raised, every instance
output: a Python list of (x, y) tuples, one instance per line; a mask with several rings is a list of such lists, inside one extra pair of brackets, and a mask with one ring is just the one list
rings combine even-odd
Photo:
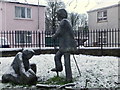
[(67, 19), (67, 12), (65, 9), (60, 9), (57, 11), (57, 18), (58, 21), (60, 21), (60, 25), (58, 26), (56, 33), (52, 36), (52, 39), (59, 38), (59, 50), (54, 57), (55, 68), (51, 71), (61, 72), (63, 70), (61, 57), (64, 55), (66, 80), (72, 81), (70, 54), (76, 50), (74, 32), (70, 22)]

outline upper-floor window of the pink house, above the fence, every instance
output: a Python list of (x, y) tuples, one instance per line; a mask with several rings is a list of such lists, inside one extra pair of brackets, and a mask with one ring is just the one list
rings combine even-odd
[(31, 8), (15, 6), (16, 18), (31, 18)]

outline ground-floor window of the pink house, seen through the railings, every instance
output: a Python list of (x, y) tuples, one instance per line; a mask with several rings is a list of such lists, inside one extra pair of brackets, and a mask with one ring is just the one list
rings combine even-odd
[(32, 43), (31, 31), (15, 31), (16, 43)]

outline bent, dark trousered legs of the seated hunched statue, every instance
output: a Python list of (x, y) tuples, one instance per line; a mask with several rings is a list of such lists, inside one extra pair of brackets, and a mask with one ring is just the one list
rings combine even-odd
[[(36, 74), (36, 64), (31, 64), (31, 69)], [(34, 84), (37, 81), (36, 75), (32, 75), (30, 72), (25, 72), (27, 76), (17, 75), (14, 73), (4, 74), (2, 76), (2, 83), (12, 82), (15, 84)]]

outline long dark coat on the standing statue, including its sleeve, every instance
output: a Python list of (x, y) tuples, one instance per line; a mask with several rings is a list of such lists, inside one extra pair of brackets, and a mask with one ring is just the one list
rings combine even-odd
[(57, 32), (53, 35), (53, 39), (59, 38), (59, 50), (61, 52), (72, 52), (76, 50), (76, 42), (74, 40), (74, 32), (67, 19), (63, 19), (58, 27)]

